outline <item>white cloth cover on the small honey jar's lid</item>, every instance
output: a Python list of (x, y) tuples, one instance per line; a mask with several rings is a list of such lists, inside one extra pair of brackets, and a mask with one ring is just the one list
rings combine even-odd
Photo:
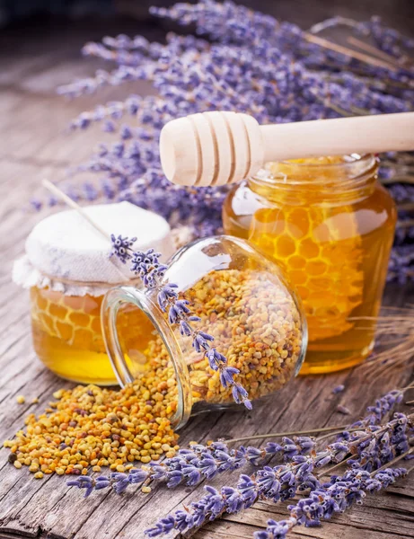
[[(169, 258), (174, 251), (170, 225), (154, 212), (138, 208), (130, 202), (101, 204), (83, 209), (109, 235), (137, 237), (134, 250), (154, 248), (163, 254), (163, 260)], [(75, 209), (62, 211), (46, 217), (34, 226), (26, 240), (25, 257), (15, 263), (13, 279), (24, 287), (34, 284), (50, 286), (48, 281), (58, 281), (59, 278), (81, 283), (116, 284), (122, 281), (114, 265), (116, 262), (127, 280), (128, 263), (124, 265), (116, 261), (115, 257), (110, 259), (110, 250), (110, 240), (106, 240)], [(133, 278), (133, 275), (130, 274), (130, 277)], [(81, 292), (77, 287), (75, 291), (67, 288), (64, 287), (67, 293)]]

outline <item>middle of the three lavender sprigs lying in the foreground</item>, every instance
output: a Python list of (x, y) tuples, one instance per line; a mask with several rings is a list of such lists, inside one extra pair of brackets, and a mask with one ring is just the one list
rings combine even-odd
[[(401, 455), (406, 448), (407, 431), (412, 431), (412, 416), (396, 414), (395, 420), (383, 427), (371, 426), (357, 433), (352, 442), (333, 442), (314, 455), (295, 455), (287, 464), (275, 467), (264, 466), (251, 477), (242, 474), (236, 488), (225, 486), (220, 491), (207, 486), (207, 494), (189, 509), (179, 510), (161, 519), (147, 530), (149, 537), (156, 537), (177, 529), (181, 533), (202, 526), (207, 520), (215, 520), (224, 513), (240, 512), (250, 508), (257, 499), (273, 502), (291, 499), (297, 492), (321, 487), (314, 471), (330, 463), (340, 463), (347, 455), (357, 455), (352, 466), (358, 473), (375, 469), (389, 462), (395, 455)], [(388, 436), (387, 436), (388, 435)], [(402, 445), (401, 445), (402, 440)], [(185, 516), (185, 518), (184, 518)]]

